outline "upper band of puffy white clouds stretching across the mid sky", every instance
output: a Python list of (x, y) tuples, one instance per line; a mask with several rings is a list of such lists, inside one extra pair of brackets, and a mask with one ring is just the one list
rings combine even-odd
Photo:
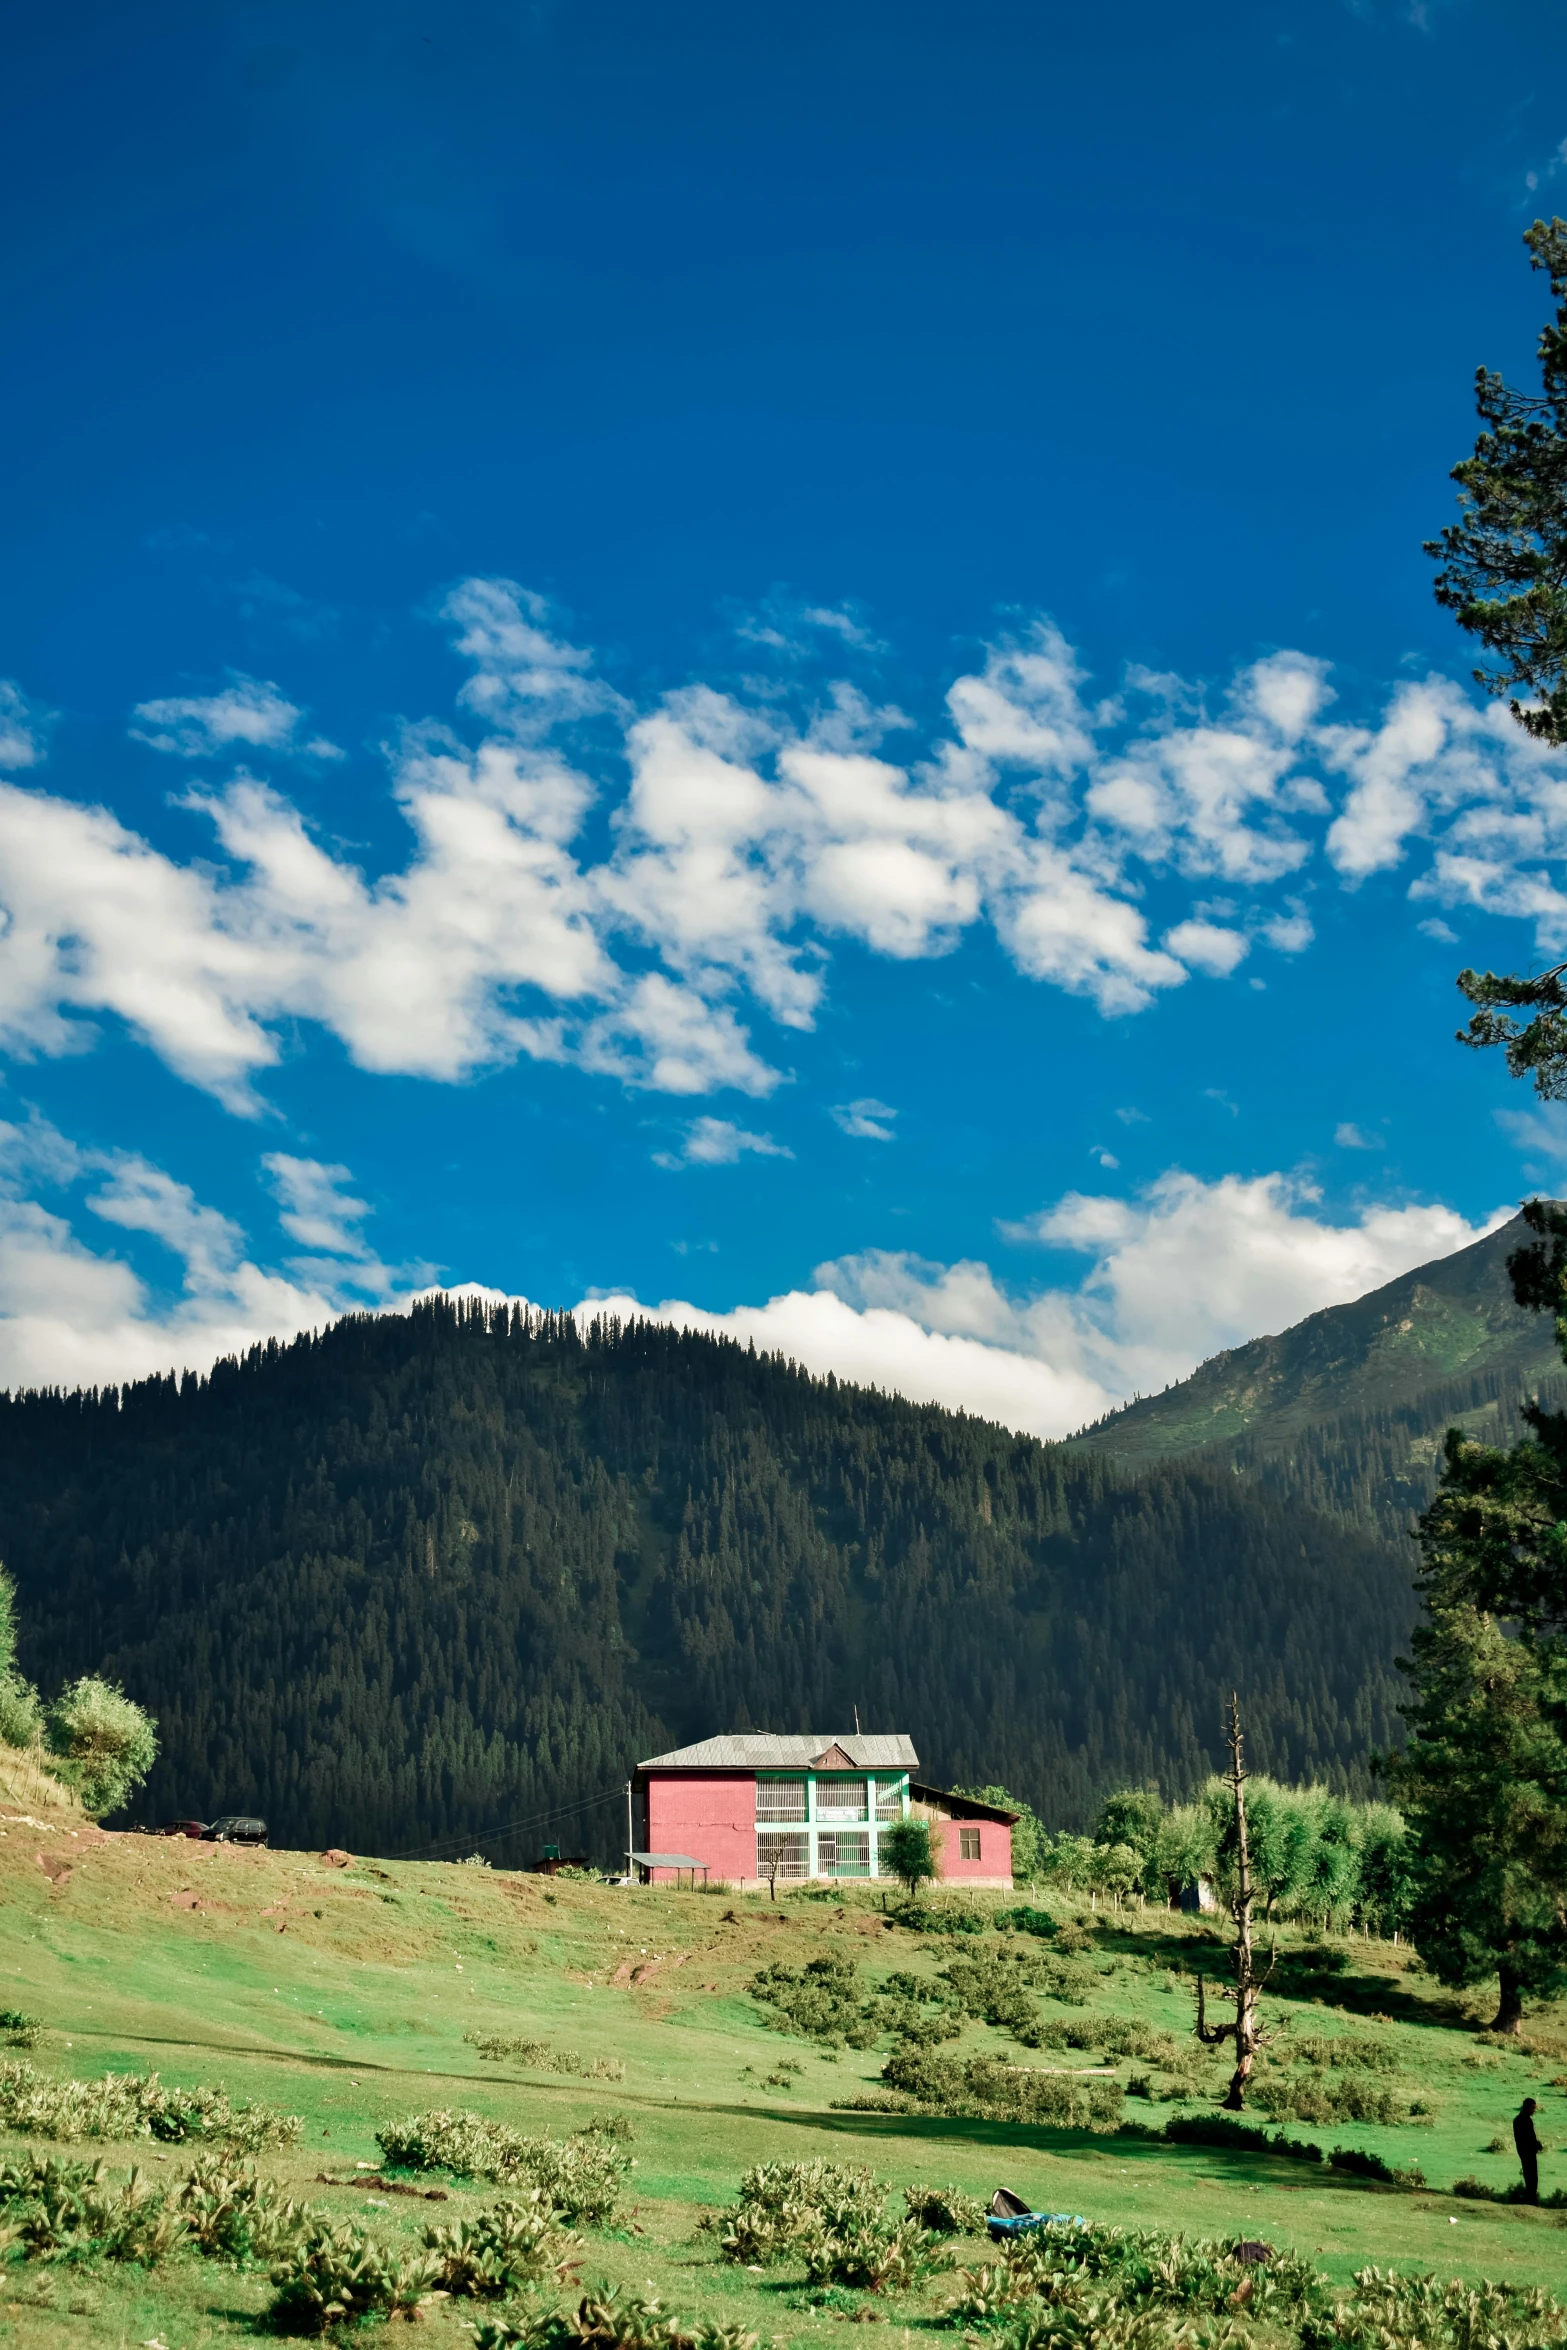
[[(1407, 867), (1417, 902), (1567, 947), (1567, 761), (1447, 679), (1400, 684), (1367, 724), (1297, 651), (1219, 691), (1128, 670), (1092, 698), (1038, 620), (893, 757), (909, 721), (820, 658), (813, 679), (634, 705), (515, 580), (460, 580), (437, 620), (468, 674), (449, 717), (385, 743), (409, 848), (383, 872), (244, 771), (336, 757), (270, 679), (134, 712), (181, 761), (240, 761), (186, 797), (209, 827), (190, 858), (16, 780), (38, 724), (5, 689), (0, 1043), (82, 1050), (117, 1020), (247, 1114), (298, 1022), (371, 1072), (463, 1081), (526, 1055), (759, 1100), (843, 947), (928, 961), (987, 931), (1022, 975), (1125, 1018), (1193, 973), (1304, 952), (1313, 860), (1346, 888)], [(867, 651), (853, 613), (794, 620), (846, 667)]]

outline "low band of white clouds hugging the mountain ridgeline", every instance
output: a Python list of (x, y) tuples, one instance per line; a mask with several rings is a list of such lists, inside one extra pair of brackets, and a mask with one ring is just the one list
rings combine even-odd
[[(733, 1156), (775, 1149), (733, 1128), (719, 1137), (717, 1126), (691, 1128), (698, 1147), (712, 1144), (709, 1163), (726, 1161), (731, 1142)], [(1548, 1135), (1558, 1161), (1567, 1121), (1560, 1128)], [(280, 1264), (143, 1156), (85, 1149), (38, 1116), (0, 1123), (0, 1384), (207, 1370), (258, 1340), (428, 1295), (432, 1267), (392, 1267), (374, 1253), (371, 1208), (348, 1168), (270, 1152), (261, 1170), (298, 1250)], [(1081, 1260), (1076, 1278), (1050, 1285), (1010, 1283), (980, 1260), (865, 1250), (820, 1264), (811, 1288), (731, 1311), (608, 1292), (578, 1314), (644, 1314), (754, 1340), (818, 1372), (1062, 1436), (1222, 1347), (1464, 1248), (1508, 1213), (1468, 1224), (1440, 1206), (1374, 1206), (1332, 1222), (1318, 1194), (1285, 1175), (1205, 1182), (1170, 1170), (1132, 1198), (1071, 1191), (1003, 1227), (1013, 1246)], [(127, 1241), (141, 1243), (139, 1262)], [(681, 1253), (709, 1248), (693, 1241)]]

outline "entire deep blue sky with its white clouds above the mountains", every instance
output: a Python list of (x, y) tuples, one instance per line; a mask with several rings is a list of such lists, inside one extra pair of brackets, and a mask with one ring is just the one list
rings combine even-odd
[(0, 1377), (421, 1285), (1041, 1434), (1567, 1130), (1421, 538), (1548, 5), (12, 28)]

